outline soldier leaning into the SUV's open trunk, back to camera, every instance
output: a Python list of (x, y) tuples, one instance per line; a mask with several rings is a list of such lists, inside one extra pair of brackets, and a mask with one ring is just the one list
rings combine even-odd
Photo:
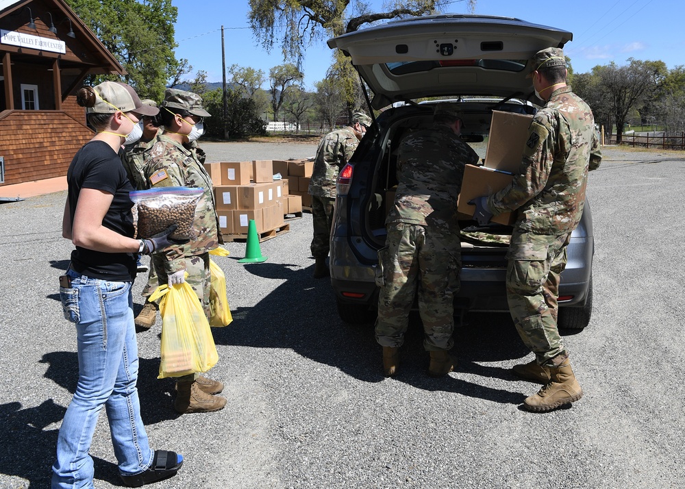
[(458, 136), (459, 112), (438, 103), (434, 125), (404, 138), (397, 158), (395, 203), (386, 218), (386, 246), (379, 250), (377, 342), (385, 375), (396, 375), (399, 347), (419, 291), (419, 312), (430, 353), (429, 375), (453, 370), (453, 294), (459, 290), (461, 246), (457, 197), (464, 165), (478, 155)]

